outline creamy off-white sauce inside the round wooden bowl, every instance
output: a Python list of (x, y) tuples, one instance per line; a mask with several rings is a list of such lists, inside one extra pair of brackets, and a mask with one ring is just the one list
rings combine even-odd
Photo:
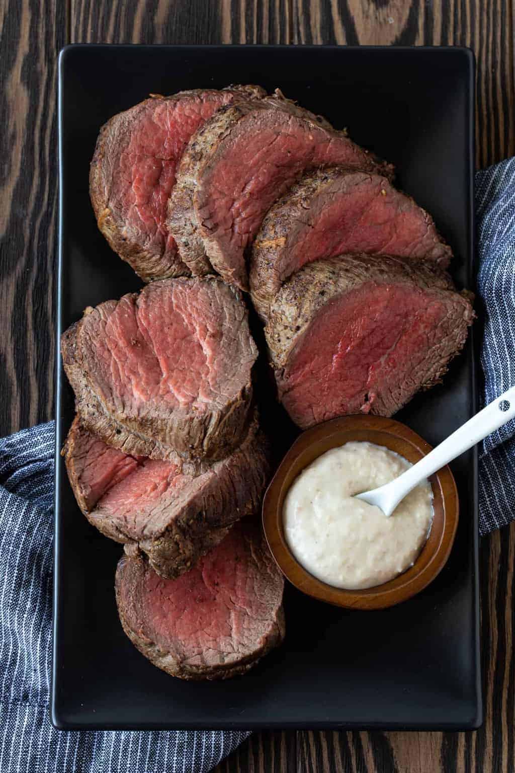
[(419, 484), (390, 518), (354, 499), (412, 465), (373, 443), (351, 442), (300, 473), (283, 508), (286, 542), (319, 580), (348, 589), (374, 587), (412, 566), (431, 528), (432, 489)]

